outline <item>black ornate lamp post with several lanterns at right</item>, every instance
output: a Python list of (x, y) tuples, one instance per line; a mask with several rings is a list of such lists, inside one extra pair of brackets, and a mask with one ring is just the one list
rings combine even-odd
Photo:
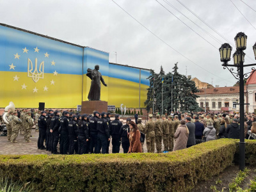
[[(252, 72), (244, 74), (244, 67), (255, 66), (256, 63), (244, 65), (244, 50), (246, 49), (247, 36), (240, 32), (235, 37), (236, 52), (233, 54), (234, 65), (228, 65), (230, 61), (232, 47), (229, 44), (223, 44), (220, 47), (220, 60), (223, 62), (223, 68), (227, 68), (231, 74), (239, 80), (239, 105), (240, 105), (240, 142), (239, 142), (239, 170), (245, 168), (245, 143), (244, 143), (244, 79), (248, 79), (255, 72), (255, 68), (252, 67)], [(256, 43), (253, 45), (253, 51), (256, 60)], [(234, 68), (237, 67), (237, 72), (234, 72)], [(248, 74), (250, 74), (248, 76)]]

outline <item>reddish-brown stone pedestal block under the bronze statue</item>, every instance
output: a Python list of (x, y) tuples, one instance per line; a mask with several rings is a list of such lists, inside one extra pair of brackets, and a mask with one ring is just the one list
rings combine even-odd
[(92, 114), (93, 111), (98, 111), (99, 113), (108, 112), (108, 102), (104, 100), (86, 100), (82, 101), (81, 113), (86, 113), (87, 115)]

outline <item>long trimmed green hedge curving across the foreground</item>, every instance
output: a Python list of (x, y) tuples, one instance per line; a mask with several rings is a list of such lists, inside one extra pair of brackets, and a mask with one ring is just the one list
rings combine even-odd
[[(237, 140), (214, 140), (168, 154), (9, 155), (0, 169), (13, 180), (33, 180), (38, 191), (189, 191), (234, 163)], [(256, 163), (246, 141), (246, 163)]]

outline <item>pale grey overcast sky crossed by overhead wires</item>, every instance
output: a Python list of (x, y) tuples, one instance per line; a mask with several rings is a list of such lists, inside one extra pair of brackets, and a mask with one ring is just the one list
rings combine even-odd
[(179, 1), (157, 1), (115, 0), (154, 35), (111, 0), (0, 0), (0, 22), (109, 52), (109, 62), (113, 63), (115, 52), (117, 63), (152, 68), (156, 72), (161, 65), (165, 72), (170, 72), (174, 63), (179, 62), (181, 74), (186, 75), (187, 66), (188, 75), (210, 84), (213, 78), (214, 86), (236, 83), (232, 74), (221, 67), (218, 48), (228, 40), (233, 54), (234, 36), (243, 31), (248, 36), (245, 61), (256, 63), (252, 50), (256, 42), (255, 0), (243, 0), (253, 10), (241, 0), (179, 0), (227, 40)]

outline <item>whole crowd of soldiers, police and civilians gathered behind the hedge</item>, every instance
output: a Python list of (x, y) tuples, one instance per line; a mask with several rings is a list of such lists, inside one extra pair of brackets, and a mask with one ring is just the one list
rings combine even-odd
[[(28, 109), (21, 112), (9, 111), (7, 118), (7, 139), (17, 143), (19, 134), (24, 140), (31, 142), (31, 129), (36, 125), (39, 131), (38, 149), (49, 150), (52, 154), (108, 154), (112, 142), (112, 153), (119, 153), (122, 146), (124, 153), (170, 152), (188, 148), (203, 141), (219, 138), (239, 139), (239, 124), (244, 123), (244, 137), (249, 138), (247, 131), (256, 134), (256, 116), (246, 114), (244, 122), (240, 122), (239, 114), (211, 113), (171, 113), (166, 115), (148, 115), (148, 122), (134, 116), (136, 122), (127, 118), (126, 123), (110, 120), (110, 113), (93, 111), (92, 115), (75, 114), (72, 111), (37, 111)], [(145, 136), (145, 141), (143, 136)], [(142, 139), (141, 139), (142, 138)], [(164, 150), (162, 150), (162, 142)], [(59, 145), (60, 152), (57, 151)]]

